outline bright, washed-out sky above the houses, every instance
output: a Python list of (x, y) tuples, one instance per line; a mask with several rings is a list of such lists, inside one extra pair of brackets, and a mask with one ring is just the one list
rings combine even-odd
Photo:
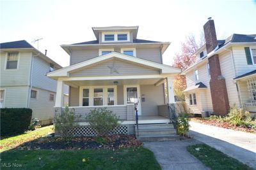
[(92, 27), (138, 25), (138, 39), (168, 41), (164, 64), (172, 65), (186, 36), (199, 41), (207, 18), (218, 39), (256, 34), (256, 0), (0, 0), (0, 42), (25, 39), (61, 66), (69, 56), (60, 45), (95, 40)]

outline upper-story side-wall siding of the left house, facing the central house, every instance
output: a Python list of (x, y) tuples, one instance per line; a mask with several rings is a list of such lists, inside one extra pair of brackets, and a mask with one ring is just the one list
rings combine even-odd
[(49, 72), (50, 63), (38, 57), (33, 59), (32, 86), (51, 92), (56, 92), (57, 82), (45, 74)]

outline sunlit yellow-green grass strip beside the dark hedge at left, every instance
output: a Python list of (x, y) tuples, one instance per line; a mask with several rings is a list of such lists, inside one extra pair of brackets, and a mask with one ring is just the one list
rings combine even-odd
[(39, 129), (36, 129), (35, 131), (28, 131), (25, 134), (20, 134), (18, 136), (13, 136), (10, 138), (4, 138), (0, 141), (0, 152), (4, 152), (6, 150), (10, 150), (12, 148), (15, 148), (19, 145), (22, 145), (23, 143), (26, 143), (28, 141), (32, 141), (37, 138), (41, 138), (42, 136), (45, 136), (49, 133), (53, 132), (52, 129), (53, 125), (49, 125), (46, 127), (42, 127)]

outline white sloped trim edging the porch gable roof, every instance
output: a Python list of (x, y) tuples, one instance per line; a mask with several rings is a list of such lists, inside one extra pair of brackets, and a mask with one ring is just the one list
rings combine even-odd
[(71, 66), (67, 66), (64, 67), (62, 69), (58, 69), (56, 71), (52, 71), (50, 73), (47, 73), (47, 76), (50, 76), (52, 78), (54, 77), (58, 77), (58, 76), (68, 76), (70, 71), (76, 71), (79, 70), (83, 67), (86, 66), (90, 66), (92, 64), (95, 64), (97, 62), (101, 62), (104, 60), (108, 60), (111, 58), (117, 58), (117, 59), (122, 59), (122, 60), (127, 60), (129, 62), (134, 62), (137, 64), (141, 64), (144, 66), (148, 66), (148, 67), (154, 67), (157, 69), (161, 70), (161, 73), (167, 73), (167, 74), (179, 74), (180, 73), (180, 69), (177, 67), (172, 67), (172, 66), (168, 66), (168, 65), (164, 65), (164, 64), (159, 64), (157, 62), (152, 62), (150, 60), (145, 60), (145, 59), (140, 59), (138, 57), (133, 57), (131, 55), (125, 55), (124, 53), (119, 53), (119, 52), (111, 52), (105, 55), (100, 55), (99, 57), (95, 57), (93, 59), (90, 60), (85, 60), (84, 62), (79, 62), (77, 64), (71, 65)]

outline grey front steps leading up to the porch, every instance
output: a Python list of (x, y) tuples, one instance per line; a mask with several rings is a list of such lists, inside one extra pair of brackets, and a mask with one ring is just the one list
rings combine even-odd
[(140, 124), (139, 136), (135, 125), (135, 134), (140, 141), (172, 141), (179, 139), (173, 124)]

